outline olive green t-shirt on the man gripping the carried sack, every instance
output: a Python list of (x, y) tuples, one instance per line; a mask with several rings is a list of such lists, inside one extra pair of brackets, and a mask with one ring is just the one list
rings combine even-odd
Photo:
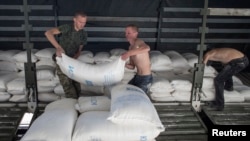
[(87, 44), (87, 32), (84, 29), (76, 31), (73, 24), (65, 24), (58, 27), (61, 35), (59, 44), (65, 51), (65, 54), (74, 57), (79, 51), (80, 45)]

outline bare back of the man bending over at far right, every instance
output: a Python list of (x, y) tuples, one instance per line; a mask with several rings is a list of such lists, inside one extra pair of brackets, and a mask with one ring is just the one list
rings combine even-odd
[(242, 58), (243, 53), (232, 48), (216, 48), (207, 52), (204, 56), (204, 61), (219, 61), (223, 64), (227, 64), (233, 59)]

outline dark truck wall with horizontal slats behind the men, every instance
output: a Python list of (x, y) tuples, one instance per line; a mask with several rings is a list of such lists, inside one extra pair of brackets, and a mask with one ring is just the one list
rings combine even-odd
[[(94, 52), (112, 48), (127, 49), (124, 27), (135, 23), (151, 49), (197, 52), (202, 0), (28, 0), (30, 40), (34, 48), (52, 47), (45, 30), (72, 22), (75, 10), (89, 15), (86, 30), (89, 38), (85, 50)], [(210, 0), (209, 7), (248, 8), (248, 1)], [(25, 38), (22, 1), (0, 2), (0, 49), (22, 49)], [(246, 16), (208, 17), (206, 44), (234, 47), (249, 52), (249, 23)], [(160, 28), (159, 28), (160, 27)], [(249, 55), (249, 54), (248, 54)]]

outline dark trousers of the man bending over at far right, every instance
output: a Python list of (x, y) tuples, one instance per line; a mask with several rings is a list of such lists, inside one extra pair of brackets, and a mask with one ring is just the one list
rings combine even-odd
[(249, 64), (248, 58), (246, 56), (233, 59), (219, 72), (219, 74), (214, 78), (215, 85), (215, 101), (219, 106), (224, 106), (224, 87), (233, 87), (233, 75), (242, 71)]

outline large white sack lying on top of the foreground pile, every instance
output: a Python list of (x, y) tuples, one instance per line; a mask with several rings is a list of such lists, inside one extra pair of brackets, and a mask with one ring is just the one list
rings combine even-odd
[(129, 84), (116, 85), (111, 89), (111, 111), (107, 118), (117, 124), (144, 123), (164, 131), (154, 105), (138, 87)]

